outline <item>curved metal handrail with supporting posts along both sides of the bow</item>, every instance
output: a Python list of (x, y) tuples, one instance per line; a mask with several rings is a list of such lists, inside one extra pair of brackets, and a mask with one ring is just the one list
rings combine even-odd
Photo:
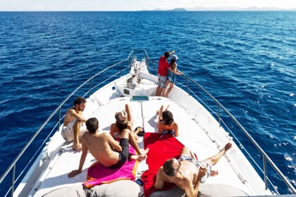
[[(101, 82), (97, 85), (95, 85), (93, 87), (93, 79), (94, 77), (97, 77), (98, 75), (100, 75), (102, 72), (105, 72), (106, 70), (109, 70), (117, 65), (120, 65), (120, 71), (117, 72), (115, 75), (111, 76), (111, 77), (115, 77), (116, 75), (119, 74), (119, 77), (121, 77), (121, 73), (123, 70), (127, 70), (128, 71), (128, 68), (130, 68), (130, 66), (132, 65), (132, 60), (134, 58), (134, 54), (136, 52), (142, 52), (144, 53), (144, 58), (146, 60), (146, 63), (147, 63), (147, 66), (148, 66), (148, 71), (149, 73), (151, 73), (151, 70), (149, 68), (149, 61), (152, 62), (152, 65), (154, 66), (154, 70), (156, 71), (156, 68), (155, 68), (155, 65), (154, 65), (154, 62), (156, 61), (153, 61), (152, 59), (149, 58), (149, 56), (147, 55), (147, 52), (143, 49), (135, 49), (133, 51), (130, 52), (128, 58), (126, 58), (125, 60), (123, 61), (120, 61), (118, 63), (115, 63), (111, 66), (109, 66), (108, 68), (105, 68), (104, 70), (101, 70), (100, 72), (98, 72), (96, 75), (93, 75), (92, 77), (90, 77), (88, 80), (86, 80), (85, 82), (83, 82), (82, 84), (80, 84), (79, 87), (77, 87), (72, 93), (70, 93), (67, 98), (65, 98), (63, 100), (63, 102), (54, 110), (53, 113), (51, 113), (51, 115), (49, 115), (49, 117), (47, 118), (47, 120), (45, 120), (45, 122), (42, 124), (41, 127), (39, 127), (39, 129), (37, 130), (37, 132), (35, 132), (35, 134), (32, 136), (32, 138), (30, 139), (30, 141), (27, 142), (27, 144), (25, 145), (25, 147), (22, 149), (22, 151), (20, 151), (20, 153), (18, 153), (17, 157), (15, 158), (15, 160), (13, 160), (13, 163), (11, 163), (11, 165), (9, 165), (9, 167), (6, 169), (6, 171), (4, 172), (4, 174), (2, 174), (2, 176), (0, 177), (0, 183), (4, 180), (4, 178), (7, 176), (7, 174), (9, 172), (11, 172), (11, 170), (13, 169), (13, 177), (12, 177), (12, 183), (11, 183), (11, 196), (13, 196), (13, 189), (14, 189), (14, 182), (15, 182), (15, 170), (16, 170), (16, 163), (18, 162), (18, 160), (20, 159), (20, 157), (23, 155), (23, 153), (27, 150), (27, 148), (32, 144), (32, 141), (35, 140), (36, 136), (39, 134), (39, 132), (42, 131), (42, 129), (44, 129), (45, 125), (47, 125), (47, 123), (49, 122), (49, 120), (51, 120), (51, 118), (58, 112), (59, 115), (58, 115), (58, 127), (60, 127), (60, 123), (61, 123), (61, 120), (63, 119), (63, 117), (61, 117), (61, 108), (62, 106), (69, 100), (69, 98), (71, 96), (73, 96), (78, 90), (81, 89), (81, 87), (83, 87), (85, 84), (87, 84), (87, 82), (91, 82), (90, 83), (90, 90), (87, 91), (87, 94), (91, 94), (91, 91), (92, 89), (95, 89), (97, 88), (100, 84), (106, 82), (106, 80), (104, 80), (104, 82)], [(123, 65), (125, 63), (128, 63), (127, 64), (127, 68), (124, 68)], [(236, 125), (238, 125), (238, 127), (242, 130), (242, 132), (244, 132), (244, 134), (248, 137), (248, 139), (250, 141), (252, 141), (252, 144), (254, 144), (254, 146), (256, 146), (256, 148), (258, 149), (258, 151), (263, 155), (263, 159), (264, 159), (264, 182), (265, 182), (265, 186), (266, 186), (266, 189), (268, 189), (268, 185), (267, 185), (267, 170), (266, 170), (266, 160), (267, 162), (269, 162), (269, 164), (273, 167), (273, 169), (276, 171), (276, 173), (278, 173), (278, 175), (283, 179), (283, 182), (285, 182), (285, 184), (287, 184), (287, 186), (291, 189), (291, 191), (293, 193), (296, 193), (294, 187), (292, 186), (292, 184), (290, 184), (290, 182), (288, 181), (288, 179), (283, 175), (282, 172), (280, 172), (280, 170), (278, 169), (278, 167), (273, 163), (273, 161), (269, 158), (269, 156), (264, 152), (264, 150), (259, 146), (259, 144), (257, 144), (256, 141), (254, 141), (254, 139), (252, 138), (252, 136), (245, 130), (244, 127), (242, 127), (242, 125), (240, 125), (240, 122), (238, 122), (238, 120), (235, 119), (235, 117), (233, 117), (233, 115), (231, 115), (231, 113), (226, 110), (226, 108), (224, 108), (221, 103), (219, 103), (216, 98), (214, 98), (214, 96), (211, 96), (211, 94), (209, 94), (208, 91), (206, 91), (201, 85), (199, 85), (197, 82), (195, 82), (194, 80), (192, 80), (190, 77), (187, 77), (187, 75), (184, 75), (183, 76), (185, 77), (185, 82), (186, 84), (184, 85), (185, 87), (187, 87), (187, 93), (190, 94), (190, 91), (191, 89), (189, 88), (189, 84), (188, 84), (188, 81), (191, 81), (193, 84), (195, 84), (197, 87), (199, 87), (200, 89), (202, 89), (202, 91), (204, 91), (204, 93), (206, 93), (207, 96), (209, 96), (209, 98), (211, 98), (217, 105), (217, 112), (218, 112), (218, 122), (219, 122), (219, 125), (221, 127), (221, 115), (220, 115), (220, 108), (224, 110), (224, 112), (228, 115), (228, 117), (231, 118), (231, 120), (233, 120), (233, 122), (235, 122)], [(109, 77), (107, 80), (111, 79), (111, 77)], [(225, 123), (224, 123), (225, 124)], [(51, 134), (51, 133), (50, 133)], [(50, 135), (49, 134), (49, 135)], [(49, 135), (47, 136), (47, 138), (49, 137)], [(30, 163), (30, 162), (29, 162)]]

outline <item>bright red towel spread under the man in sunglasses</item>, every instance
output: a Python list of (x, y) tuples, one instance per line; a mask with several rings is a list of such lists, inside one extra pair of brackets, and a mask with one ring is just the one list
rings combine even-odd
[[(146, 161), (149, 170), (142, 174), (142, 182), (144, 184), (144, 195), (149, 196), (156, 190), (154, 188), (154, 183), (159, 167), (164, 165), (164, 162), (169, 158), (180, 158), (180, 153), (184, 145), (171, 134), (160, 135), (157, 133), (145, 133), (144, 147), (149, 148)], [(175, 184), (165, 183), (164, 189), (162, 190), (171, 189), (173, 186), (175, 186)]]

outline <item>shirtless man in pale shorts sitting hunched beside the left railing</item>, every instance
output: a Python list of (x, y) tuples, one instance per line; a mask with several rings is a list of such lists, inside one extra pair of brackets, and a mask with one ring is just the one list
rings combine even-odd
[(63, 130), (61, 135), (66, 141), (74, 141), (73, 149), (80, 151), (81, 144), (79, 142), (80, 127), (83, 122), (87, 120), (82, 113), (85, 110), (85, 98), (78, 97), (74, 101), (74, 106), (67, 110), (65, 118), (63, 119)]

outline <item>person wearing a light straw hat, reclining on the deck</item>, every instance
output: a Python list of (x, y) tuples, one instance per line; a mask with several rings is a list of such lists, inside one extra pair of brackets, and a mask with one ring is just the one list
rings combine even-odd
[[(132, 112), (130, 110), (130, 105), (125, 104), (125, 110), (115, 113), (116, 122), (112, 123), (110, 126), (110, 134), (113, 138), (119, 138), (123, 129), (130, 129), (132, 131), (132, 126), (134, 125), (134, 119), (132, 118)], [(133, 136), (137, 139), (137, 133), (141, 132), (142, 127), (137, 127), (133, 132)]]

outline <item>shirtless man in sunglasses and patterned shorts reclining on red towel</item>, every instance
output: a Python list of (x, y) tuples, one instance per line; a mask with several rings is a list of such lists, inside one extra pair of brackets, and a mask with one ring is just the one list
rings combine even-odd
[(226, 144), (219, 153), (202, 162), (198, 162), (195, 154), (189, 148), (184, 147), (179, 160), (171, 158), (159, 168), (154, 187), (162, 189), (164, 182), (173, 183), (180, 189), (184, 189), (186, 196), (197, 196), (200, 184), (204, 183), (209, 176), (218, 174), (217, 171), (212, 171), (211, 167), (218, 163), (218, 160), (231, 146), (230, 143)]

